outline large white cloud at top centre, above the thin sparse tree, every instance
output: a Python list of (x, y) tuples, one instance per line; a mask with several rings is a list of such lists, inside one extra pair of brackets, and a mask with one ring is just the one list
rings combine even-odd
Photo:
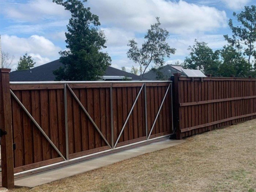
[(156, 21), (156, 16), (160, 17), (163, 27), (175, 34), (212, 31), (227, 24), (224, 11), (182, 0), (178, 3), (164, 0), (98, 0), (88, 4), (92, 12), (99, 15), (102, 24), (134, 32), (145, 32)]

